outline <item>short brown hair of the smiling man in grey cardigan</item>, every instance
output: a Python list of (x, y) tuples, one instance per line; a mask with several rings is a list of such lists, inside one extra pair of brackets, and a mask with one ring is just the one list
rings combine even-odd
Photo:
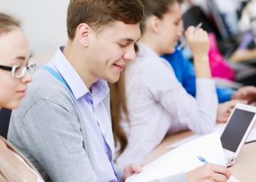
[(140, 0), (70, 0), (67, 9), (67, 34), (75, 37), (80, 23), (95, 30), (118, 20), (126, 24), (140, 23), (143, 4)]

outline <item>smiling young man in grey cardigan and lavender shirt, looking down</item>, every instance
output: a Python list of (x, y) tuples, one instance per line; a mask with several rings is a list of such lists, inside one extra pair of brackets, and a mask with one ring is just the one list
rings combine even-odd
[[(34, 76), (8, 139), (45, 181), (119, 181), (113, 165), (108, 82), (116, 82), (140, 38), (140, 0), (71, 0), (66, 47)], [(130, 165), (123, 180), (140, 167)]]

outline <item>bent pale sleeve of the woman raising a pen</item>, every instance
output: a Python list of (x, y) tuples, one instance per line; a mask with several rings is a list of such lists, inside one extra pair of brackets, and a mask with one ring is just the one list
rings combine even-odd
[[(206, 133), (213, 130), (217, 116), (217, 94), (211, 79), (197, 79), (197, 97), (189, 95), (178, 82), (171, 67), (154, 64), (146, 68), (145, 84), (148, 97), (165, 108), (172, 119), (187, 124), (194, 132)], [(152, 73), (157, 76), (152, 77)]]

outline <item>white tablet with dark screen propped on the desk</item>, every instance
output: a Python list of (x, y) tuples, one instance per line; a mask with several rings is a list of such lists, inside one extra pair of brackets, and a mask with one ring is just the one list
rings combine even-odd
[(227, 166), (233, 165), (256, 120), (256, 107), (238, 103), (227, 120), (220, 140)]

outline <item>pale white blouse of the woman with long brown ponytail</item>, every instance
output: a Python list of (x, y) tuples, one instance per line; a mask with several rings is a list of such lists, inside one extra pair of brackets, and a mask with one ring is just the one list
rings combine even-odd
[(196, 79), (196, 98), (178, 82), (173, 68), (156, 52), (138, 44), (138, 57), (125, 71), (128, 123), (121, 124), (128, 145), (117, 159), (118, 167), (140, 163), (161, 143), (167, 132), (189, 128), (198, 133), (213, 130), (217, 118), (217, 93), (211, 79)]

